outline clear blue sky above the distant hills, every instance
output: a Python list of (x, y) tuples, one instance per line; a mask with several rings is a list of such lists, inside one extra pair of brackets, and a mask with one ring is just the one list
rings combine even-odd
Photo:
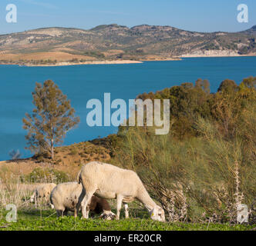
[[(5, 22), (6, 5), (18, 8), (18, 22)], [(237, 22), (237, 5), (247, 4), (249, 22)], [(0, 33), (51, 26), (170, 25), (197, 32), (236, 32), (256, 25), (256, 0), (1, 0)]]

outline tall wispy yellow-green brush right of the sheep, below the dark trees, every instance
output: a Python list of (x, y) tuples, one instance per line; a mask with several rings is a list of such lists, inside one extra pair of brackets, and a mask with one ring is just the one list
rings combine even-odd
[(197, 138), (182, 141), (129, 128), (113, 163), (140, 175), (170, 221), (235, 223), (237, 206), (256, 197), (255, 116), (255, 107), (245, 110), (230, 137), (203, 118)]

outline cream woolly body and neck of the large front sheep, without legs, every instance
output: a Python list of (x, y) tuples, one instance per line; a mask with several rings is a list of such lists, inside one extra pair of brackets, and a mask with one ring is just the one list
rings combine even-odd
[(124, 202), (137, 199), (149, 211), (157, 206), (134, 171), (93, 161), (83, 166), (78, 181), (83, 183), (86, 190), (95, 190), (94, 194), (99, 198), (115, 199), (121, 195)]

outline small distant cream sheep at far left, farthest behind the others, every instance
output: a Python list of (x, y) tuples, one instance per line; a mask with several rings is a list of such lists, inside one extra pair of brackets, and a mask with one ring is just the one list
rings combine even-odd
[[(44, 198), (45, 202), (49, 204), (49, 198), (50, 194), (52, 192), (52, 189), (56, 187), (56, 184), (49, 183), (49, 184), (39, 184), (37, 186), (30, 197), (31, 202), (35, 202), (35, 207), (37, 204), (37, 201), (40, 199), (42, 201), (42, 198)], [(53, 205), (50, 204), (51, 208), (53, 208)]]

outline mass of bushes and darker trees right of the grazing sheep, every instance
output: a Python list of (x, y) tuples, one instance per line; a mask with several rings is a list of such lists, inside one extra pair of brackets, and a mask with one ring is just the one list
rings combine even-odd
[[(169, 98), (170, 133), (120, 127), (113, 164), (136, 171), (169, 221), (235, 223), (237, 206), (256, 212), (256, 78), (166, 88), (138, 98)], [(146, 120), (146, 119), (145, 119)]]

